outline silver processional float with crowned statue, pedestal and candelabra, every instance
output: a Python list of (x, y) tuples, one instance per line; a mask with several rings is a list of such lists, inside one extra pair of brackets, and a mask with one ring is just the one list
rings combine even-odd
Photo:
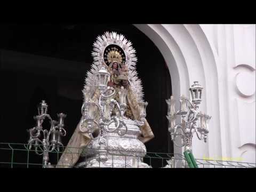
[[(83, 92), (82, 118), (66, 147), (58, 165), (63, 167), (141, 167), (147, 150), (145, 142), (154, 138), (146, 120), (148, 102), (143, 100), (143, 87), (136, 71), (137, 57), (132, 43), (123, 35), (106, 32), (98, 36), (93, 44), (93, 63), (87, 71)], [(198, 110), (203, 87), (195, 82), (190, 87), (192, 102), (180, 97), (180, 109), (175, 112), (173, 97), (166, 100), (169, 132), (174, 145), (180, 137), (185, 146), (185, 158), (189, 167), (197, 167), (191, 153), (191, 140), (194, 132), (198, 139), (206, 142), (209, 132), (207, 123), (210, 116)], [(53, 121), (47, 114), (47, 104), (42, 101), (38, 106), (37, 124), (29, 130), (30, 148), (35, 147), (38, 155), (43, 155), (43, 167), (54, 167), (49, 163), (49, 152), (63, 146), (61, 137), (66, 135), (63, 128), (65, 114), (58, 114), (59, 121)], [(181, 123), (175, 119), (181, 116)], [(43, 130), (45, 118), (50, 120), (50, 131)], [(81, 135), (79, 135), (81, 134)], [(84, 136), (85, 135), (85, 136)], [(39, 139), (43, 136), (43, 140)], [(74, 138), (82, 138), (86, 145), (81, 147), (79, 157), (84, 160), (75, 164), (78, 156), (70, 157), (67, 149), (74, 147)], [(72, 140), (72, 141), (71, 141)], [(80, 141), (80, 140), (79, 140)], [(38, 143), (42, 144), (42, 153), (38, 153)], [(74, 157), (76, 157), (75, 162)], [(66, 164), (65, 164), (66, 162)], [(174, 167), (173, 159), (165, 167)], [(68, 165), (68, 166), (66, 166)], [(57, 167), (57, 166), (56, 166)], [(60, 166), (61, 167), (61, 166)]]

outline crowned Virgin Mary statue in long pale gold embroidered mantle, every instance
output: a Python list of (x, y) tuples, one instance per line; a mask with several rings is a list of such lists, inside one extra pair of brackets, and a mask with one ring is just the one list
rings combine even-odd
[[(153, 139), (154, 134), (151, 131), (151, 127), (149, 126), (146, 118), (141, 117), (140, 103), (138, 102), (138, 98), (132, 90), (131, 83), (129, 81), (129, 69), (127, 68), (124, 57), (120, 51), (116, 49), (116, 46), (114, 48), (115, 49), (111, 49), (108, 53), (106, 53), (106, 57), (104, 60), (101, 60), (101, 65), (99, 66), (105, 67), (110, 74), (110, 78), (108, 79), (108, 86), (115, 89), (115, 100), (119, 100), (118, 92), (120, 89), (127, 90), (127, 109), (125, 111), (124, 117), (143, 122), (143, 125), (140, 126), (141, 135), (138, 137), (138, 139), (145, 143)], [(95, 73), (91, 75), (93, 76)], [(99, 102), (100, 91), (97, 87), (92, 88), (92, 86), (87, 86), (83, 93), (86, 96), (85, 98), (87, 101), (94, 103)], [(116, 113), (118, 113), (118, 111), (116, 111)], [(99, 121), (99, 117), (97, 115), (95, 115), (95, 121)], [(77, 163), (83, 148), (89, 145), (92, 140), (91, 133), (86, 131), (86, 126), (86, 123), (83, 122), (83, 117), (81, 117), (81, 120), (79, 121), (71, 139), (69, 140), (65, 151), (63, 151), (63, 154), (60, 157), (56, 167), (73, 167)], [(97, 126), (95, 126), (93, 127), (92, 134), (97, 133), (99, 133), (99, 129)]]

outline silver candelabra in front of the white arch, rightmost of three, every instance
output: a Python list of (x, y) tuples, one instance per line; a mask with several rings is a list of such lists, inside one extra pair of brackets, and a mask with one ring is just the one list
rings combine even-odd
[[(169, 120), (168, 131), (171, 133), (171, 139), (177, 147), (184, 147), (185, 151), (192, 151), (192, 138), (196, 133), (199, 140), (207, 140), (207, 134), (209, 133), (208, 123), (211, 119), (209, 115), (199, 111), (199, 105), (202, 101), (203, 87), (194, 82), (189, 91), (192, 97), (192, 102), (182, 95), (179, 98), (180, 107), (178, 111), (175, 111), (175, 100), (173, 96), (167, 99), (168, 112), (167, 119)], [(181, 122), (175, 124), (175, 119), (181, 117)], [(177, 145), (175, 139), (181, 138), (181, 145)]]

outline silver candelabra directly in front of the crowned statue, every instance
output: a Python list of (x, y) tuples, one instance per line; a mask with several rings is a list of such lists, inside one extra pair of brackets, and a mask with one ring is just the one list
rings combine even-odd
[[(83, 90), (84, 103), (82, 106), (82, 121), (79, 125), (81, 132), (89, 134), (92, 140), (98, 140), (100, 155), (97, 161), (106, 162), (107, 159), (107, 132), (116, 132), (121, 127), (125, 127), (123, 133), (118, 131), (120, 136), (127, 132), (127, 126), (123, 119), (126, 105), (127, 90), (121, 86), (118, 90), (119, 101), (114, 99), (116, 91), (113, 87), (107, 86), (110, 73), (102, 65), (101, 69), (95, 74), (95, 85), (87, 86)], [(93, 94), (96, 88), (99, 90), (99, 100), (93, 100)], [(145, 106), (146, 108), (146, 106)], [(143, 111), (146, 111), (143, 110)], [(114, 115), (113, 115), (114, 113)], [(143, 116), (143, 115), (142, 115)], [(146, 114), (144, 115), (146, 116)], [(115, 129), (110, 129), (110, 124), (115, 125)], [(143, 122), (137, 121), (138, 125), (143, 125)], [(112, 126), (113, 127), (113, 126)]]

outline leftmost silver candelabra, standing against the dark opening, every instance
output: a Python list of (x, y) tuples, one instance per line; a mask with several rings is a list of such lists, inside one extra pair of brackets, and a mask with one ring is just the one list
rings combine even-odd
[[(63, 147), (61, 142), (61, 137), (66, 135), (66, 131), (63, 128), (63, 120), (66, 117), (65, 114), (57, 114), (59, 121), (52, 120), (51, 116), (47, 114), (48, 105), (43, 100), (38, 105), (38, 115), (34, 117), (36, 120), (36, 126), (29, 129), (30, 138), (28, 140), (29, 149), (33, 146), (35, 148), (35, 153), (37, 155), (43, 155), (43, 168), (51, 167), (49, 163), (49, 152), (56, 149), (60, 150), (60, 147)], [(43, 129), (44, 120), (48, 119), (50, 123), (50, 130)], [(41, 148), (41, 146), (43, 148)]]

